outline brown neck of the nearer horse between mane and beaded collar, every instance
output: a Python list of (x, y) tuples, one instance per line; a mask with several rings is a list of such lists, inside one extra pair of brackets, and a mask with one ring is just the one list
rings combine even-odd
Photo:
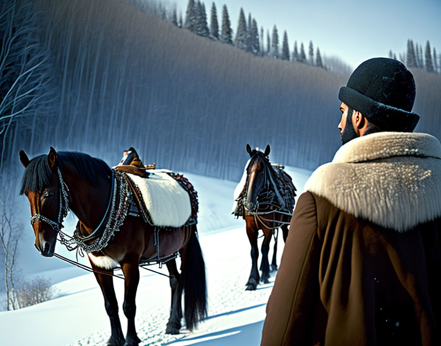
[(63, 169), (63, 179), (69, 188), (70, 209), (86, 229), (93, 231), (100, 224), (107, 210), (111, 182), (99, 177), (99, 187), (82, 180), (72, 166)]

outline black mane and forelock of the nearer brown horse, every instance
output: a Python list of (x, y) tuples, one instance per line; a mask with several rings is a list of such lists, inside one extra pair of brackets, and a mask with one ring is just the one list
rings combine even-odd
[[(41, 193), (46, 187), (53, 185), (53, 177), (47, 154), (34, 157), (23, 174), (20, 195), (26, 190)], [(93, 186), (98, 186), (98, 177), (108, 178), (111, 175), (110, 167), (101, 159), (75, 151), (57, 152), (57, 164), (63, 172), (63, 163), (69, 162), (76, 167), (80, 178)]]

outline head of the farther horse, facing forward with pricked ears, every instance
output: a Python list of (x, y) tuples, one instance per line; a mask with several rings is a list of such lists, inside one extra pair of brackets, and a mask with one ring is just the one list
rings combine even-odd
[(248, 185), (247, 189), (247, 199), (245, 202), (245, 208), (247, 210), (257, 209), (257, 196), (262, 190), (265, 184), (265, 165), (269, 165), (268, 155), (270, 153), (270, 145), (268, 144), (264, 152), (258, 149), (251, 149), (250, 144), (247, 144), (247, 151), (251, 156), (250, 163), (247, 167), (248, 173)]

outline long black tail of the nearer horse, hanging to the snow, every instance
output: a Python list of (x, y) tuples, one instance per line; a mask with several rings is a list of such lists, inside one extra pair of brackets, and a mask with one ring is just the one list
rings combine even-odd
[(192, 226), (182, 268), (184, 280), (184, 318), (189, 330), (207, 317), (207, 282), (205, 262), (197, 237), (196, 225)]

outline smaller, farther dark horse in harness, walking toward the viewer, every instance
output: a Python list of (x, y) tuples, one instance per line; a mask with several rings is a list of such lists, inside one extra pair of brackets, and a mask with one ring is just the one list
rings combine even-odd
[[(239, 198), (236, 200), (236, 216), (243, 216), (247, 226), (247, 235), (251, 244), (252, 267), (250, 278), (246, 284), (247, 290), (254, 290), (259, 281), (269, 282), (270, 265), (268, 262), (269, 244), (273, 233), (275, 244), (271, 270), (277, 270), (277, 232), (279, 228), (283, 231), (284, 241), (288, 235), (288, 225), (291, 220), (294, 208), (295, 187), (291, 177), (284, 172), (283, 167), (271, 165), (268, 160), (270, 146), (267, 145), (265, 152), (252, 150), (247, 144), (247, 151), (251, 156), (246, 167), (247, 179)], [(257, 259), (259, 249), (257, 247), (258, 231), (263, 231), (263, 242), (261, 247), (262, 260), (259, 276), (257, 270)]]

